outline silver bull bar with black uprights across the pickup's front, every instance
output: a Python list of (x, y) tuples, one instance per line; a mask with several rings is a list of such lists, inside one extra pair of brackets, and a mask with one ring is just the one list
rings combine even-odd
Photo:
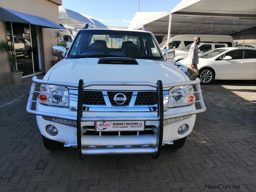
[[(38, 116), (49, 116), (49, 117), (55, 117), (55, 118), (62, 118), (67, 120), (73, 120), (77, 122), (77, 150), (78, 154), (80, 156), (82, 155), (99, 155), (99, 154), (151, 154), (154, 159), (157, 159), (161, 153), (161, 147), (162, 147), (162, 140), (163, 140), (163, 126), (164, 126), (164, 120), (175, 118), (179, 116), (188, 116), (193, 115), (197, 113), (202, 113), (206, 110), (206, 107), (204, 105), (204, 100), (202, 96), (202, 90), (200, 88), (200, 79), (196, 78), (195, 81), (189, 81), (189, 82), (181, 82), (181, 83), (171, 83), (171, 84), (162, 84), (162, 81), (158, 80), (156, 84), (151, 82), (87, 82), (84, 83), (82, 79), (79, 80), (78, 84), (72, 84), (72, 83), (63, 83), (63, 82), (56, 82), (56, 81), (47, 81), (47, 80), (41, 80), (37, 79), (36, 76), (32, 78), (32, 85), (30, 94), (28, 97), (28, 104), (27, 104), (27, 112), (30, 114), (38, 115)], [(48, 85), (56, 85), (56, 86), (64, 86), (64, 87), (71, 87), (78, 89), (78, 96), (77, 96), (77, 106), (69, 106), (69, 105), (57, 105), (52, 103), (45, 103), (48, 105), (53, 106), (61, 106), (61, 107), (73, 107), (77, 108), (77, 116), (68, 116), (68, 115), (61, 115), (56, 113), (50, 113), (50, 112), (44, 112), (44, 111), (36, 111), (31, 109), (32, 103), (42, 103), (40, 101), (37, 101), (37, 98), (33, 100), (35, 93), (44, 93), (44, 92), (37, 92), (36, 84), (48, 84)], [(90, 87), (93, 85), (104, 85), (104, 86), (150, 86), (156, 88), (157, 92), (157, 116), (117, 116), (117, 117), (83, 117), (83, 90), (85, 87)], [(198, 98), (199, 100), (194, 101), (199, 102), (201, 105), (201, 109), (196, 109), (192, 111), (187, 112), (181, 112), (171, 115), (164, 116), (164, 106), (163, 106), (163, 99), (166, 96), (163, 96), (163, 88), (170, 88), (175, 86), (183, 86), (183, 85), (196, 85)], [(47, 93), (52, 94), (52, 93)], [(57, 94), (55, 94), (57, 95)], [(172, 95), (168, 95), (170, 97)], [(66, 97), (66, 96), (65, 96)], [(72, 97), (72, 96), (67, 96)], [(175, 105), (169, 105), (169, 107), (176, 107)], [(157, 127), (157, 137), (156, 137), (156, 146), (153, 147), (130, 147), (130, 148), (82, 148), (81, 145), (81, 137), (82, 137), (82, 127), (81, 122), (96, 122), (96, 121), (159, 121), (158, 127)]]

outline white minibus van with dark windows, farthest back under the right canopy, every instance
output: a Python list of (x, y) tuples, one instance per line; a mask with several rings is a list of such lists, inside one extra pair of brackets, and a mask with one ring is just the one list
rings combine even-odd
[[(231, 36), (228, 35), (176, 35), (170, 37), (169, 41), (169, 49), (177, 49), (181, 50), (184, 47), (186, 47), (188, 44), (194, 42), (194, 37), (199, 36), (201, 43), (225, 43), (228, 44), (229, 47), (234, 46), (234, 41)], [(164, 52), (167, 46), (167, 37), (164, 39), (164, 41), (159, 45), (161, 48), (161, 51)]]

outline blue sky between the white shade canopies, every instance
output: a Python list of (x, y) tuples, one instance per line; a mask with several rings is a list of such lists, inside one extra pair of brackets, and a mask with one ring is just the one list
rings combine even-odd
[[(140, 11), (171, 11), (181, 1), (140, 0)], [(128, 27), (139, 11), (139, 0), (62, 0), (62, 6), (107, 26)]]

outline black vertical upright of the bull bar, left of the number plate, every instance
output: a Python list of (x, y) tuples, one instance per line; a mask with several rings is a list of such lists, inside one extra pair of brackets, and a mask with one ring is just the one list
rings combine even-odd
[(77, 95), (77, 117), (76, 117), (76, 138), (77, 138), (77, 151), (79, 157), (82, 157), (82, 144), (81, 144), (81, 117), (83, 116), (83, 79), (79, 80), (78, 95)]

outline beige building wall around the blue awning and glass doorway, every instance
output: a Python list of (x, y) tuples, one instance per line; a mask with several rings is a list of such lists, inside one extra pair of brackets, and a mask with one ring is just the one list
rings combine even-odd
[[(59, 24), (59, 4), (61, 4), (61, 0), (6, 0), (0, 1), (0, 7), (4, 7), (7, 9), (11, 9), (13, 11), (18, 11), (30, 15), (36, 15), (40, 17), (44, 17), (48, 20), (51, 20), (54, 23)], [(4, 26), (4, 27), (3, 27)], [(5, 22), (0, 21), (0, 40), (6, 39), (6, 33), (4, 32)], [(44, 72), (47, 72), (52, 67), (52, 60), (56, 60), (57, 57), (52, 56), (52, 46), (57, 43), (57, 39), (54, 38), (54, 31), (58, 29), (44, 28), (42, 27), (42, 52), (43, 52), (43, 66)], [(9, 68), (4, 68), (3, 70), (3, 56), (2, 52), (0, 53), (0, 84), (5, 82), (10, 82), (10, 78), (6, 81), (5, 71), (9, 71)], [(8, 74), (9, 75), (9, 74)]]

